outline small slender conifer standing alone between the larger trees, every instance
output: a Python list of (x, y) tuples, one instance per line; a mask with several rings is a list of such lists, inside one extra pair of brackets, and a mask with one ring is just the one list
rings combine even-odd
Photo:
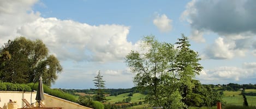
[(94, 86), (97, 88), (97, 94), (94, 96), (95, 100), (97, 101), (103, 101), (106, 100), (103, 89), (105, 87), (105, 81), (103, 80), (103, 76), (100, 74), (100, 71), (98, 72), (98, 75), (94, 77), (95, 81)]

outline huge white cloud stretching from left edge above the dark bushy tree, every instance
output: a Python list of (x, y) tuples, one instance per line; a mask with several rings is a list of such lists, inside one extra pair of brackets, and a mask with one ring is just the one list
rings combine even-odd
[[(13, 3), (5, 1), (0, 9), (1, 44), (16, 36), (40, 39), (60, 60), (120, 61), (133, 48), (127, 41), (129, 27), (116, 24), (89, 25), (72, 20), (43, 18), (31, 10), (37, 1)], [(17, 9), (23, 4), (23, 8)], [(27, 13), (27, 11), (31, 11)], [(3, 19), (7, 18), (7, 19)]]

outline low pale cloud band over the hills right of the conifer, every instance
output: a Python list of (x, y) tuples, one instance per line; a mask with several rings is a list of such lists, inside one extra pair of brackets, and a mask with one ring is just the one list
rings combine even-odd
[[(255, 63), (248, 63), (255, 64)], [(228, 83), (252, 83), (256, 69), (239, 67), (218, 67), (215, 69), (204, 69), (197, 75), (203, 84), (228, 84)]]

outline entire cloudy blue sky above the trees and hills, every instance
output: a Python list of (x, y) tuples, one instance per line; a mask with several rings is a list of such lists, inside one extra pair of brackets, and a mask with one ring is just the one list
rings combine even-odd
[(256, 84), (256, 1), (0, 0), (0, 46), (42, 40), (63, 71), (52, 88), (132, 88), (124, 63), (144, 36), (175, 43), (181, 34), (199, 53), (202, 84)]

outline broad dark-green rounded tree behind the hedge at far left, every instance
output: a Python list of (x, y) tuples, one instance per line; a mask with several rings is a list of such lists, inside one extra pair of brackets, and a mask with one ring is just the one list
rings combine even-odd
[(10, 53), (11, 59), (0, 67), (0, 79), (3, 82), (24, 84), (35, 82), (42, 76), (44, 84), (50, 86), (57, 79), (57, 73), (62, 70), (58, 59), (49, 55), (41, 40), (18, 37), (9, 40), (0, 49), (0, 53), (6, 51)]

